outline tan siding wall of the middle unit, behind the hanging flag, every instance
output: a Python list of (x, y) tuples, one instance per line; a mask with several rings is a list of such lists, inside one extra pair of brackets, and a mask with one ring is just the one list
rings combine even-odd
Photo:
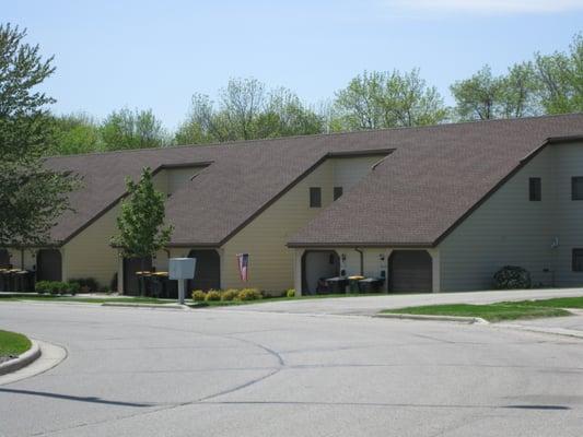
[[(324, 162), (222, 247), (221, 287), (293, 287), (293, 250), (285, 244), (333, 201), (334, 165)], [(310, 208), (310, 187), (322, 187), (322, 208)], [(237, 253), (249, 253), (249, 281), (238, 277)]]

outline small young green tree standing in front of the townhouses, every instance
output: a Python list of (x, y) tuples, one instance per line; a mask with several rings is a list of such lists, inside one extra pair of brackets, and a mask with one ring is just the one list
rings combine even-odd
[(112, 245), (121, 249), (127, 258), (151, 257), (162, 249), (172, 235), (173, 227), (164, 226), (164, 194), (156, 191), (149, 167), (142, 169), (140, 180), (126, 179), (128, 199), (121, 202), (117, 217), (119, 235), (112, 237)]

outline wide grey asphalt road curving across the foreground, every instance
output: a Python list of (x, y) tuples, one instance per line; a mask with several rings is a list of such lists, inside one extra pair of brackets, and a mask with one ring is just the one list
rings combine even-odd
[[(351, 299), (347, 299), (351, 300)], [(491, 326), (0, 303), (68, 358), (0, 435), (580, 436), (581, 340)]]

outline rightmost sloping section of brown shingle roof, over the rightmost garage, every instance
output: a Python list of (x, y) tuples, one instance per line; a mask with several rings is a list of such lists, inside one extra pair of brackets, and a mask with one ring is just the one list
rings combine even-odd
[(377, 132), (392, 153), (290, 246), (431, 246), (548, 138), (583, 134), (583, 115)]

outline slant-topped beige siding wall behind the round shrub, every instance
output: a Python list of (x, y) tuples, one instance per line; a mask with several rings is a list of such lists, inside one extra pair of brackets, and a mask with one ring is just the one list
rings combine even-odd
[[(503, 265), (527, 269), (534, 284), (550, 285), (552, 147), (547, 147), (518, 170), (440, 245), (441, 291), (492, 287)], [(543, 200), (528, 200), (528, 178), (540, 177)]]

